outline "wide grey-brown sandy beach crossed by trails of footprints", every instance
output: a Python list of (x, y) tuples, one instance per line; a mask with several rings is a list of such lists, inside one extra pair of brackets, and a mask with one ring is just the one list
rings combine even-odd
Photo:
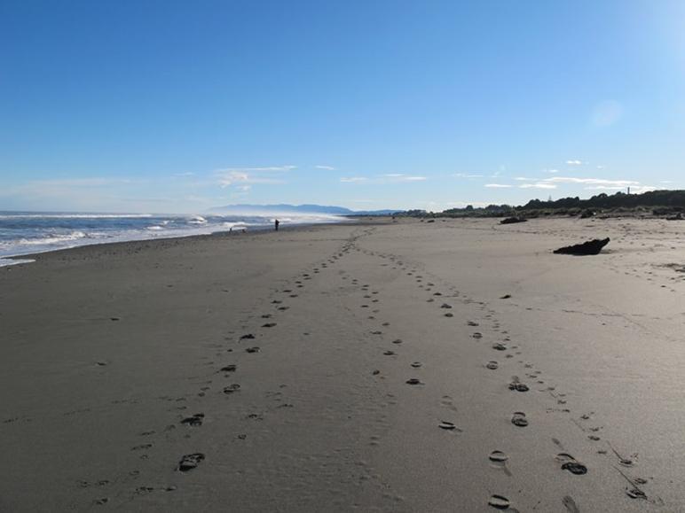
[(683, 230), (381, 221), (0, 268), (0, 510), (685, 510)]

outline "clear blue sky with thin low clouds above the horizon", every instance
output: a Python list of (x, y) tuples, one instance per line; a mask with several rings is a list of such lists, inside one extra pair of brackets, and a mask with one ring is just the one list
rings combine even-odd
[(685, 3), (0, 3), (0, 209), (685, 186)]

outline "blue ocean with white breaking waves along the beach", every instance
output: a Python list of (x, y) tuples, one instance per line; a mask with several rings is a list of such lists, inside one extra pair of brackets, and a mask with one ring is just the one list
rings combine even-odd
[[(333, 215), (288, 214), (281, 227), (294, 224), (341, 222)], [(272, 229), (270, 216), (91, 214), (0, 211), (0, 266), (24, 260), (7, 257), (43, 253), (81, 245), (128, 240), (187, 237), (230, 229)], [(28, 260), (30, 261), (30, 260)]]

